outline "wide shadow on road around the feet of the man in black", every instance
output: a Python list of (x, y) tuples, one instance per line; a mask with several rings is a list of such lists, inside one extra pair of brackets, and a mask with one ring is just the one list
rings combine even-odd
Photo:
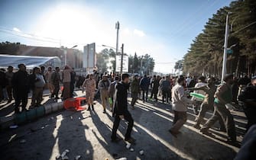
[[(103, 116), (105, 116), (103, 114)], [(110, 120), (113, 120), (109, 114), (106, 115)], [(128, 159), (184, 159), (180, 155), (177, 155), (172, 150), (168, 149), (163, 143), (158, 139), (155, 139), (153, 136), (148, 134), (145, 130), (142, 130), (139, 126), (134, 126), (134, 131), (132, 135), (136, 136), (137, 142), (135, 145), (131, 145), (131, 148), (134, 149), (134, 152), (131, 152), (129, 149), (126, 149), (126, 143), (120, 141), (118, 143), (111, 142), (112, 134), (112, 123), (109, 126), (109, 123), (101, 120), (98, 114), (92, 115), (92, 122), (95, 124), (97, 131), (93, 131), (96, 139), (99, 141), (101, 146), (109, 152), (112, 158), (122, 158), (126, 157)], [(125, 134), (127, 124), (125, 121), (120, 122), (119, 131), (121, 136)], [(119, 135), (120, 136), (120, 135)], [(139, 151), (144, 150), (144, 155), (140, 155)], [(99, 157), (99, 159), (104, 159), (104, 157)]]

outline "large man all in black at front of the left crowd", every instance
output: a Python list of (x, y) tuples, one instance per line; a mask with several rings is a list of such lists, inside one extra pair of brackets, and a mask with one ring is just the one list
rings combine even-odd
[(13, 75), (11, 84), (15, 93), (15, 113), (20, 112), (19, 106), (22, 101), (22, 111), (27, 110), (28, 104), (28, 72), (26, 71), (26, 66), (24, 64), (18, 65), (18, 72)]

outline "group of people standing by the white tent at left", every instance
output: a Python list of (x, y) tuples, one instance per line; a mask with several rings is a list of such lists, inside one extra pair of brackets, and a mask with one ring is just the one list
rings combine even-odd
[(31, 105), (29, 108), (41, 106), (46, 88), (50, 91), (50, 98), (60, 99), (60, 83), (63, 83), (61, 93), (63, 100), (73, 97), (76, 72), (70, 66), (65, 66), (63, 72), (60, 72), (59, 67), (55, 69), (48, 67), (45, 71), (44, 66), (34, 67), (28, 71), (25, 64), (19, 64), (16, 72), (14, 72), (13, 66), (8, 66), (7, 72), (5, 69), (0, 70), (0, 101), (11, 103), (15, 99), (16, 114), (28, 110), (28, 94), (30, 92)]

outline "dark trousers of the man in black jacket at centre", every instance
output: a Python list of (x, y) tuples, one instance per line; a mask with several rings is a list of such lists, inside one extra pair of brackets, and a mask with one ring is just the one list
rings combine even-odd
[[(134, 120), (132, 119), (131, 114), (128, 110), (125, 110), (124, 117), (125, 117), (125, 120), (128, 121), (128, 127), (127, 127), (127, 131), (125, 133), (125, 139), (130, 139), (131, 138), (131, 130), (132, 130), (132, 127), (134, 124)], [(113, 124), (112, 136), (111, 136), (112, 139), (116, 139), (116, 132), (118, 130), (120, 120), (121, 120), (120, 117), (118, 115), (115, 115), (115, 121)]]

